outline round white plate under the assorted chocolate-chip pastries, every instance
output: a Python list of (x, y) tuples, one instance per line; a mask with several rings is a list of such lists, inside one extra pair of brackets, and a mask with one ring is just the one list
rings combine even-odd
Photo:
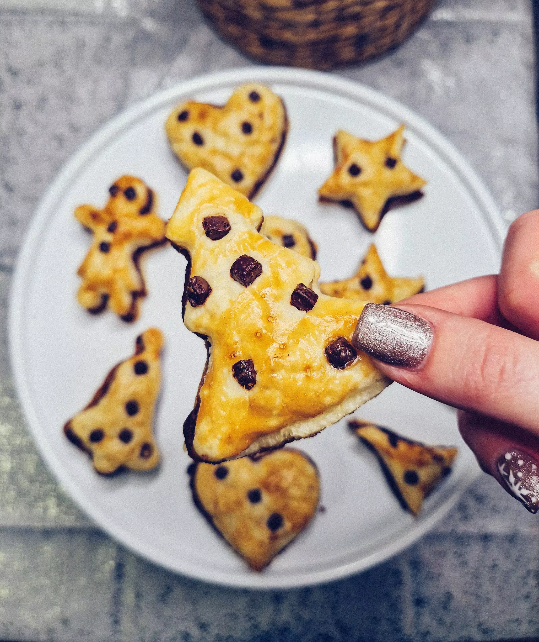
[[(110, 535), (158, 564), (192, 577), (246, 587), (325, 582), (387, 559), (424, 534), (456, 502), (477, 473), (454, 413), (393, 385), (359, 412), (431, 443), (457, 444), (453, 473), (427, 499), (417, 519), (406, 514), (379, 466), (347, 432), (346, 422), (295, 444), (319, 465), (322, 505), (311, 526), (263, 573), (254, 573), (219, 539), (194, 508), (183, 420), (191, 410), (206, 351), (181, 322), (185, 260), (172, 248), (145, 265), (149, 297), (134, 325), (112, 313), (88, 315), (76, 302), (76, 269), (88, 236), (75, 207), (102, 207), (122, 174), (143, 178), (169, 218), (187, 174), (169, 150), (163, 125), (186, 98), (222, 103), (241, 83), (269, 83), (283, 96), (290, 134), (276, 171), (259, 198), (265, 213), (300, 220), (319, 244), (322, 279), (351, 275), (371, 241), (391, 274), (422, 273), (435, 288), (497, 270), (503, 225), (481, 180), (423, 119), (372, 89), (329, 74), (251, 67), (181, 83), (145, 100), (104, 126), (70, 160), (38, 207), (13, 281), (12, 362), (26, 417), (51, 470), (75, 501)], [(404, 160), (427, 178), (426, 196), (385, 216), (371, 236), (352, 211), (320, 205), (316, 189), (332, 170), (331, 137), (343, 128), (367, 139), (408, 125)], [(164, 385), (156, 417), (163, 465), (155, 474), (97, 476), (62, 426), (133, 350), (137, 334), (157, 325), (167, 339)]]

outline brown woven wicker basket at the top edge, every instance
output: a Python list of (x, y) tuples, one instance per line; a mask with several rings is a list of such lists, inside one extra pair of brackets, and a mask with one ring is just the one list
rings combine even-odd
[(388, 51), (434, 0), (198, 0), (220, 35), (276, 65), (331, 69)]

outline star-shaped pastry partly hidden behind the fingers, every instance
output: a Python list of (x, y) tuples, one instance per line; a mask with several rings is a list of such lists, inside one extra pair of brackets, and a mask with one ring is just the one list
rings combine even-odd
[(320, 291), (330, 297), (344, 297), (389, 305), (421, 292), (423, 286), (422, 277), (417, 279), (390, 277), (380, 261), (376, 246), (371, 243), (353, 277), (342, 281), (320, 283)]

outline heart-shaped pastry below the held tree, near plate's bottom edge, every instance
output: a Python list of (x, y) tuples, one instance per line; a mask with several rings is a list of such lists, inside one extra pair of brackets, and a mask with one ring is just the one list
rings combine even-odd
[(317, 510), (317, 467), (292, 449), (189, 467), (195, 505), (255, 571), (310, 523)]

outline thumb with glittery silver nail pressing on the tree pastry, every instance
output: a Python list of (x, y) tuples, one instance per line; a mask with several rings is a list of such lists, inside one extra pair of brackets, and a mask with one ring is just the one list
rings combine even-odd
[(368, 304), (352, 343), (407, 388), (539, 435), (539, 343), (444, 310)]

